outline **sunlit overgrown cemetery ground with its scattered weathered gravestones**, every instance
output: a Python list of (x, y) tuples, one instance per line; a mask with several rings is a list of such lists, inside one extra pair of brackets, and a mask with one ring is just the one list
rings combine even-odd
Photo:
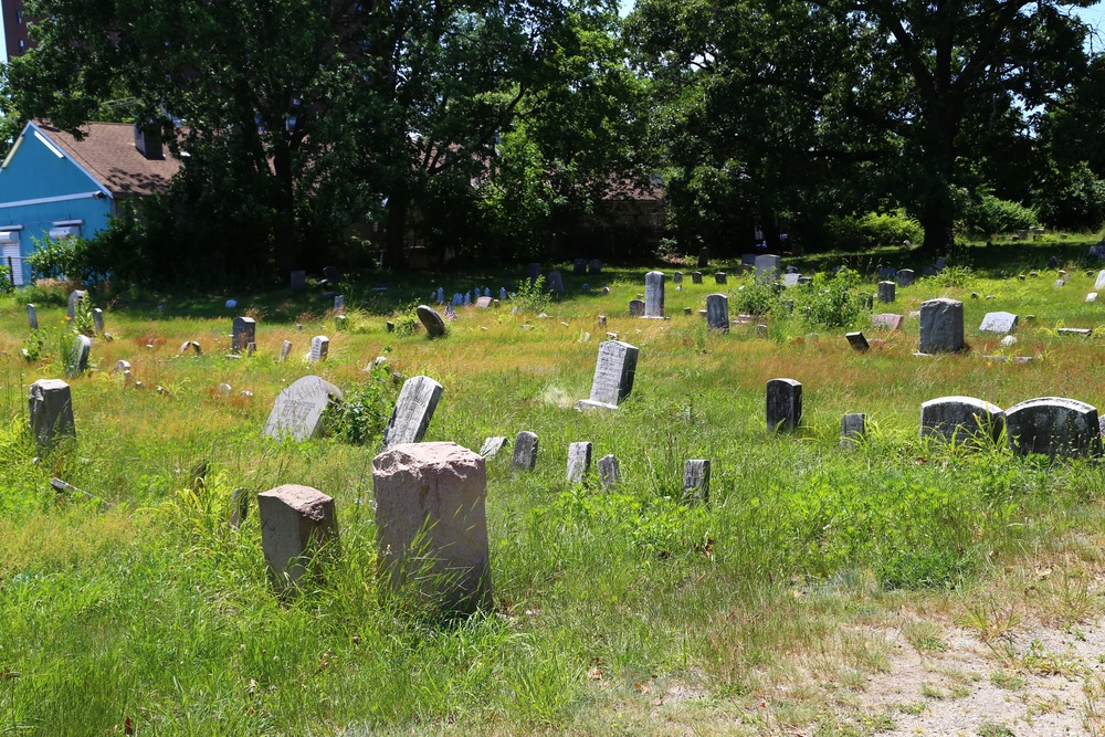
[(970, 635), (1098, 728), (1087, 246), (6, 296), (0, 726), (866, 735)]

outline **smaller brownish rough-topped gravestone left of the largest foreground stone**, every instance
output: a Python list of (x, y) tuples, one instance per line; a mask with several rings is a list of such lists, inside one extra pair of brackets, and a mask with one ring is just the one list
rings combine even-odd
[(257, 516), (265, 568), (277, 591), (295, 589), (338, 534), (334, 499), (311, 486), (284, 484), (257, 494)]

